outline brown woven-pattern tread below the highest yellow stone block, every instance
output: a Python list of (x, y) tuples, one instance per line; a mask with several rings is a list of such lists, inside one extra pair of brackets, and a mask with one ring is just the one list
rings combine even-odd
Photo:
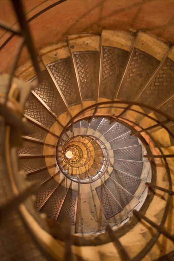
[(102, 73), (99, 96), (113, 99), (128, 60), (129, 52), (123, 49), (102, 46)]

